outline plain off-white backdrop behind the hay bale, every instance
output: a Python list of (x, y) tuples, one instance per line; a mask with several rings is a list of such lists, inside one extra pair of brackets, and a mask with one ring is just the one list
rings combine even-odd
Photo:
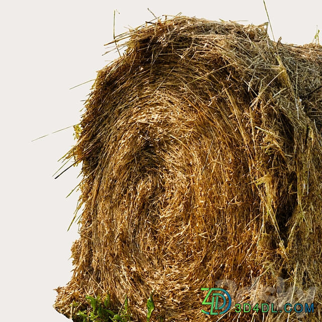
[[(275, 39), (312, 42), (322, 28), (322, 2), (266, 0)], [(74, 144), (68, 128), (79, 122), (96, 71), (116, 57), (103, 44), (163, 14), (261, 24), (263, 1), (11, 1), (0, 10), (1, 66), (1, 320), (67, 321), (53, 308), (65, 285), (77, 238), (73, 217), (80, 167), (54, 180), (57, 160)], [(271, 33), (270, 33), (271, 34)], [(322, 35), (321, 35), (322, 38)]]

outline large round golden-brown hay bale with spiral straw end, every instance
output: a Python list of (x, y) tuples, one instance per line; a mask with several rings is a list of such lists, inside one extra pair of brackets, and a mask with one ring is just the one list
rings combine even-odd
[(203, 321), (200, 288), (280, 278), (315, 287), (305, 320), (320, 320), (321, 46), (273, 42), (267, 24), (188, 17), (126, 37), (69, 153), (83, 161), (85, 209), (56, 309), (71, 316), (73, 300), (107, 293), (120, 307), (128, 294), (145, 321), (154, 290), (153, 320)]

